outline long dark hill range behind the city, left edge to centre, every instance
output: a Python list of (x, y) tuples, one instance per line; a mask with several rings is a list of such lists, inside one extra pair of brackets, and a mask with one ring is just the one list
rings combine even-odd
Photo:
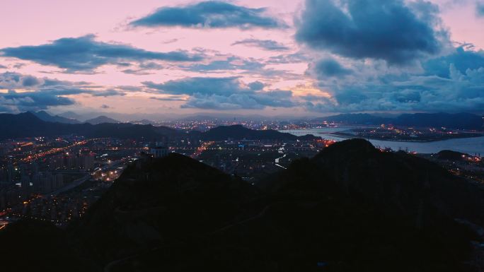
[[(100, 124), (63, 124), (61, 122), (46, 122), (31, 112), (21, 114), (0, 114), (0, 139), (25, 138), (33, 136), (62, 136), (76, 134), (86, 137), (115, 137), (138, 138), (150, 141), (161, 138), (200, 138), (205, 141), (222, 141), (228, 138), (234, 140), (311, 140), (319, 138), (312, 135), (294, 136), (274, 130), (253, 130), (241, 125), (219, 126), (209, 131), (180, 131), (167, 126), (153, 126), (151, 124), (111, 123), (115, 121), (101, 117), (96, 121)], [(94, 122), (96, 123), (96, 122)]]

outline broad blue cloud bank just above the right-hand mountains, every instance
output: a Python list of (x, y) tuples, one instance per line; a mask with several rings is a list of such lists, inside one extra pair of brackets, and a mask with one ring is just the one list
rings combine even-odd
[[(449, 63), (446, 61), (455, 58), (444, 57), (441, 65), (446, 66)], [(330, 99), (309, 100), (305, 107), (316, 112), (482, 112), (484, 65), (472, 64), (474, 68), (466, 68), (464, 64), (462, 61), (463, 66), (458, 69), (450, 63), (444, 76), (435, 74), (440, 66), (435, 71), (397, 74), (374, 71), (367, 74), (371, 67), (362, 66), (337, 82), (320, 81), (319, 86), (330, 92)]]

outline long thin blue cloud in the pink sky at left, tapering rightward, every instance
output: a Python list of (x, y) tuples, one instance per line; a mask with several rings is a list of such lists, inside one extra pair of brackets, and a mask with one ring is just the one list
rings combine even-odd
[(105, 64), (123, 61), (200, 61), (201, 55), (185, 51), (151, 52), (129, 45), (96, 42), (93, 35), (54, 40), (47, 45), (7, 47), (0, 49), (2, 57), (16, 57), (43, 65), (54, 65), (67, 72), (92, 72)]

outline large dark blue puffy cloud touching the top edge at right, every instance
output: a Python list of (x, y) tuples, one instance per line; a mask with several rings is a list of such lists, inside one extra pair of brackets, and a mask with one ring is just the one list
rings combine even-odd
[(355, 59), (405, 64), (437, 54), (446, 32), (435, 30), (437, 7), (403, 0), (306, 0), (296, 40)]

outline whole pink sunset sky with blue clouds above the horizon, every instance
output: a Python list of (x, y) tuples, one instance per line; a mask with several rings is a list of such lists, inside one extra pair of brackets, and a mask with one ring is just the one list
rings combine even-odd
[(484, 112), (484, 1), (2, 0), (0, 112)]

